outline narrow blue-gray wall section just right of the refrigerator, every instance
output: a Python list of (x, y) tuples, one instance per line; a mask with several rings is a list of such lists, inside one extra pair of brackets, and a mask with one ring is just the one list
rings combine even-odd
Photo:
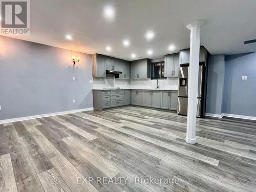
[(222, 113), (222, 98), (225, 77), (225, 55), (214, 55), (209, 58), (206, 113)]

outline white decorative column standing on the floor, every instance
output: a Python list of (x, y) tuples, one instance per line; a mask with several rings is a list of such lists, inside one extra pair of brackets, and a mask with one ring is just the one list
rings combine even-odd
[(200, 30), (203, 25), (203, 20), (197, 20), (186, 26), (190, 30), (186, 142), (191, 144), (196, 143)]

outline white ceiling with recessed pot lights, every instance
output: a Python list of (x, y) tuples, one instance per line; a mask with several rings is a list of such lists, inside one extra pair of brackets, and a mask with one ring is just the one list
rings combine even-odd
[[(102, 16), (103, 8), (115, 8), (112, 22)], [(255, 0), (44, 0), (30, 1), (30, 35), (15, 38), (38, 42), (83, 53), (101, 53), (135, 60), (158, 58), (189, 48), (189, 30), (197, 19), (205, 20), (201, 44), (211, 54), (236, 54), (256, 51)], [(151, 41), (148, 30), (155, 32)], [(66, 34), (72, 34), (68, 41)], [(131, 45), (124, 48), (123, 39)], [(168, 51), (174, 44), (176, 49)], [(112, 51), (105, 47), (109, 45)], [(153, 54), (146, 54), (148, 49)]]

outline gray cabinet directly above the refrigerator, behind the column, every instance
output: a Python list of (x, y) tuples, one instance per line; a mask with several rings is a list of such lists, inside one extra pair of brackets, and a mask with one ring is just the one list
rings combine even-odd
[[(180, 64), (189, 63), (190, 49), (180, 50)], [(201, 46), (199, 53), (199, 62), (205, 62), (207, 57), (207, 50)]]

